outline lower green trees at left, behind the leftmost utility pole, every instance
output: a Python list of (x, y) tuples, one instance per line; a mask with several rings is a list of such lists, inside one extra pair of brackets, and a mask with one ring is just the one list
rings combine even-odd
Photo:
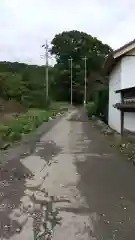
[[(52, 67), (49, 67), (49, 80), (49, 84), (52, 84)], [(1, 98), (19, 101), (28, 107), (44, 108), (45, 88), (45, 66), (0, 62)]]

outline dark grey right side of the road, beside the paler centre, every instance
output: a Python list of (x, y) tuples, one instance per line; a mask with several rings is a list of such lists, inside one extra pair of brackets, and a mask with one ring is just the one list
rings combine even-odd
[[(84, 136), (90, 140), (87, 143), (90, 155), (85, 155), (83, 162), (76, 158), (81, 176), (78, 188), (86, 196), (91, 213), (95, 212), (99, 216), (99, 222), (95, 223), (96, 237), (134, 240), (135, 168), (110, 147), (105, 137), (91, 123), (83, 123), (82, 127)], [(107, 154), (108, 157), (104, 157)]]

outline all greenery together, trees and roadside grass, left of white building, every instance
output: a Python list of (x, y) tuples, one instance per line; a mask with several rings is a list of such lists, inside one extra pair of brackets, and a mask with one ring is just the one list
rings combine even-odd
[[(19, 140), (49, 117), (67, 109), (71, 94), (70, 57), (73, 60), (73, 103), (80, 104), (84, 100), (86, 56), (87, 102), (92, 101), (87, 105), (87, 111), (89, 116), (105, 114), (108, 90), (103, 92), (103, 89), (108, 89), (108, 82), (102, 66), (112, 49), (97, 38), (79, 31), (57, 34), (51, 44), (50, 53), (55, 56), (56, 64), (49, 66), (47, 100), (45, 66), (0, 62), (0, 142)], [(13, 113), (16, 115), (12, 116)]]

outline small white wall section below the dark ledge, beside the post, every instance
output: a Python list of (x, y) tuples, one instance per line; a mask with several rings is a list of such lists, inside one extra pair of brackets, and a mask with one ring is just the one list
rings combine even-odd
[(135, 132), (135, 113), (124, 113), (124, 129)]

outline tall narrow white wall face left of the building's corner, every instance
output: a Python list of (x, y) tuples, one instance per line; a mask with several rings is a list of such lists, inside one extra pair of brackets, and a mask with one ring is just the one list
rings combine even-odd
[(110, 74), (109, 79), (109, 126), (116, 130), (121, 131), (121, 113), (113, 105), (121, 102), (120, 93), (115, 93), (116, 90), (121, 89), (121, 62), (119, 62)]

